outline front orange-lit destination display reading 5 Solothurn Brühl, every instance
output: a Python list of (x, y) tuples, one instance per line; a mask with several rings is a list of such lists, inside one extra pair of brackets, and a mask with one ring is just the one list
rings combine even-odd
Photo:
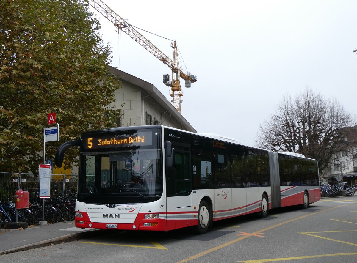
[(87, 149), (152, 145), (152, 132), (138, 132), (132, 135), (99, 134), (84, 138), (84, 140), (84, 146)]

